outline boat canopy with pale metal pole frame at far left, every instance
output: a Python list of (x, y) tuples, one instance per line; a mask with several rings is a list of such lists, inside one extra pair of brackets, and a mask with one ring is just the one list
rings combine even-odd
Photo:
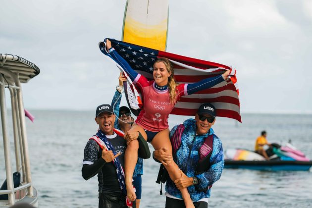
[[(15, 192), (21, 190), (26, 192), (26, 189), (27, 194), (25, 193), (23, 198), (28, 199), (25, 201), (29, 202), (29, 198), (34, 199), (32, 200), (33, 203), (37, 204), (38, 201), (37, 191), (34, 189), (31, 179), (21, 83), (27, 83), (31, 78), (35, 77), (39, 73), (40, 69), (34, 63), (17, 55), (0, 53), (0, 112), (7, 184), (7, 190), (0, 190), (0, 195), (8, 195), (8, 201), (5, 206), (14, 205), (17, 200), (20, 200), (16, 199)], [(9, 90), (11, 98), (16, 171), (22, 172), (21, 185), (16, 188), (14, 188), (12, 163), (10, 158), (10, 140), (8, 136), (5, 88)]]

